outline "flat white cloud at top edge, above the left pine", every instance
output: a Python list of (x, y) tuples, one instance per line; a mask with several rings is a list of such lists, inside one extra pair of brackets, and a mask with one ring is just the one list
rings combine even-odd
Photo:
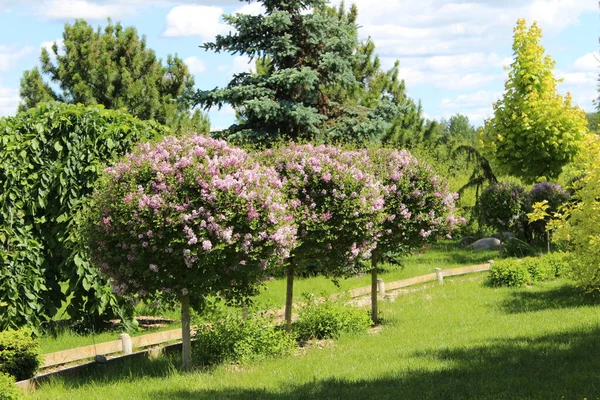
[(36, 14), (46, 19), (75, 19), (105, 20), (108, 17), (117, 18), (131, 13), (134, 7), (123, 2), (107, 1), (94, 2), (87, 0), (45, 0), (37, 3)]

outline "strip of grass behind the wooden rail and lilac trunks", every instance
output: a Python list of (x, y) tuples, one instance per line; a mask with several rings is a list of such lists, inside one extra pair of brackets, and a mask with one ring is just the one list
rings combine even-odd
[[(379, 274), (385, 282), (393, 282), (414, 276), (426, 275), (436, 268), (449, 269), (466, 265), (476, 265), (498, 257), (498, 251), (474, 251), (461, 249), (456, 241), (442, 241), (427, 249), (406, 257), (402, 266), (383, 264), (386, 270)], [(369, 274), (360, 277), (340, 279), (339, 286), (323, 276), (299, 279), (294, 281), (294, 301), (301, 301), (303, 293), (333, 294), (350, 289), (369, 286)], [(285, 304), (285, 279), (277, 279), (266, 283), (266, 289), (255, 298), (255, 302), (263, 308), (283, 307)]]

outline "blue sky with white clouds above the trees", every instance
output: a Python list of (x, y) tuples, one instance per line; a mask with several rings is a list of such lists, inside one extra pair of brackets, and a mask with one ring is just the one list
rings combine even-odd
[[(408, 94), (429, 119), (460, 113), (480, 125), (502, 96), (512, 62), (518, 18), (537, 21), (542, 45), (556, 61), (559, 92), (594, 109), (600, 73), (600, 8), (597, 0), (355, 0), (359, 36), (371, 37), (382, 65), (400, 61)], [(332, 4), (339, 4), (334, 0)], [(351, 1), (346, 1), (351, 4)], [(249, 70), (244, 56), (199, 48), (229, 32), (221, 15), (261, 12), (256, 2), (236, 0), (0, 0), (0, 116), (14, 115), (23, 71), (39, 65), (42, 47), (60, 40), (65, 23), (83, 18), (94, 26), (107, 18), (134, 26), (160, 58), (177, 54), (196, 87), (226, 85)], [(59, 46), (60, 47), (60, 46)], [(213, 129), (234, 120), (230, 107), (210, 110)]]

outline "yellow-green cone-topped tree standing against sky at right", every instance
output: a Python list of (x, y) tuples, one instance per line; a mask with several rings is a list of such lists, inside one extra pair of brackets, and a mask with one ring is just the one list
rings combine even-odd
[(504, 96), (482, 136), (484, 152), (508, 174), (534, 182), (556, 178), (577, 153), (587, 130), (585, 112), (556, 93), (554, 61), (540, 45), (542, 31), (524, 19), (514, 29), (514, 61)]

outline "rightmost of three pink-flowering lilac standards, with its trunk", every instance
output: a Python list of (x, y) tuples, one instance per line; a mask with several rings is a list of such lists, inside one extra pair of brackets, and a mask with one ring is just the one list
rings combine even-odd
[(371, 318), (377, 323), (377, 264), (381, 256), (406, 254), (449, 235), (464, 219), (454, 216), (458, 195), (408, 151), (376, 148), (369, 155), (384, 191), (385, 219), (377, 227), (377, 247), (371, 254)]

